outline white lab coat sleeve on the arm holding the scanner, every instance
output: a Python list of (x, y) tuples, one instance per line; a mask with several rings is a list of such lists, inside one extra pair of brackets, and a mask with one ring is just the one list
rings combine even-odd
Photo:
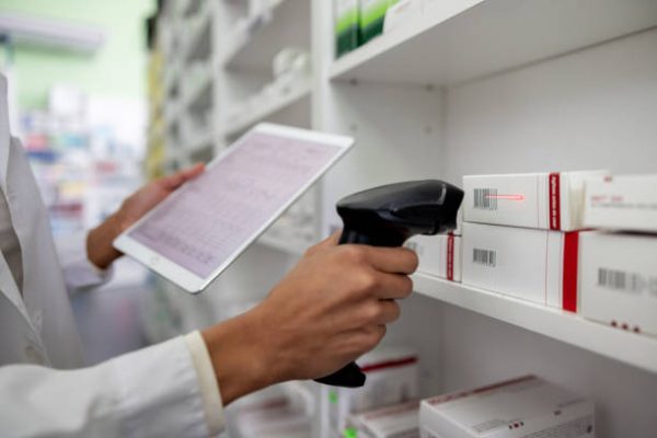
[(201, 384), (185, 337), (79, 370), (0, 367), (0, 436), (215, 436)]

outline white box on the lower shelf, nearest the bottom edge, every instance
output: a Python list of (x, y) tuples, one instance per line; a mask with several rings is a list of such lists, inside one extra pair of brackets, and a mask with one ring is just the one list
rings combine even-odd
[(423, 438), (593, 438), (593, 403), (543, 379), (506, 382), (423, 400)]

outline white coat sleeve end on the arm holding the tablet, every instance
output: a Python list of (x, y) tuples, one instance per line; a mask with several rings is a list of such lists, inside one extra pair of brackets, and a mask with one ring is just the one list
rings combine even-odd
[(58, 238), (57, 253), (69, 292), (100, 287), (112, 279), (114, 267), (100, 269), (87, 256), (87, 231)]

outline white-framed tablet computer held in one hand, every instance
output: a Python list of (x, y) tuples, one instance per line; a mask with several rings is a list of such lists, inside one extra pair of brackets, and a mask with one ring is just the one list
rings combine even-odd
[(260, 124), (123, 232), (114, 246), (199, 292), (353, 143), (348, 137)]

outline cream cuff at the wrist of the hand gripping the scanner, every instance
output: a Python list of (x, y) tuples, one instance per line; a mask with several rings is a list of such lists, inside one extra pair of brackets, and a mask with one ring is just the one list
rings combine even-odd
[(223, 403), (210, 354), (198, 331), (186, 335), (185, 342), (192, 355), (192, 362), (198, 378), (198, 387), (200, 388), (200, 397), (203, 400), (208, 430), (210, 436), (216, 436), (223, 427)]

